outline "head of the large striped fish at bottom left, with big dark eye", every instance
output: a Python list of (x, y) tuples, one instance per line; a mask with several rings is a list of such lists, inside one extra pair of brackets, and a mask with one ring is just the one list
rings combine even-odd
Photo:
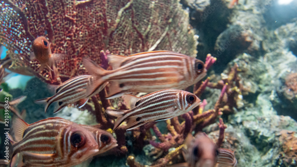
[(70, 160), (80, 163), (96, 155), (99, 149), (94, 133), (78, 124), (71, 126), (69, 134), (65, 136), (70, 146)]

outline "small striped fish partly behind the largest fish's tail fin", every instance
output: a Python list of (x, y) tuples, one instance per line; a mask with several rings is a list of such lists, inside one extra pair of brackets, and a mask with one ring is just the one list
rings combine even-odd
[[(48, 107), (54, 104), (54, 113), (61, 111), (65, 106), (79, 102), (79, 108), (84, 106), (88, 101), (89, 97), (94, 96), (94, 94), (99, 93), (96, 90), (92, 95), (87, 96), (86, 88), (93, 82), (93, 77), (91, 75), (79, 75), (68, 79), (60, 85), (51, 85), (50, 89), (55, 91), (55, 95), (36, 100), (36, 103), (46, 103), (45, 112), (47, 112)], [(108, 83), (102, 85), (104, 88)], [(102, 88), (102, 89), (103, 89)], [(98, 88), (102, 90), (101, 88)]]

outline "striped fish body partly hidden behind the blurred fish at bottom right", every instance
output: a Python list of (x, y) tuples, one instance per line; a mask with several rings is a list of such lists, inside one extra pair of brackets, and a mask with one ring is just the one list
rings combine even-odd
[(230, 149), (219, 148), (217, 150), (217, 166), (216, 167), (236, 167), (237, 160), (235, 158), (234, 152)]

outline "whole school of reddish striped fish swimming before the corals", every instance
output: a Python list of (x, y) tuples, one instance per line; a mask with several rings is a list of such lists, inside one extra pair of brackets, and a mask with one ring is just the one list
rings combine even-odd
[[(55, 63), (65, 54), (51, 52), (44, 36), (32, 43), (31, 58), (40, 62), (52, 78), (59, 76)], [(127, 120), (126, 129), (132, 130), (151, 121), (167, 120), (185, 114), (201, 104), (201, 100), (185, 89), (206, 76), (204, 63), (199, 59), (167, 50), (136, 53), (129, 56), (107, 55), (112, 70), (105, 70), (88, 58), (83, 65), (90, 75), (79, 75), (60, 85), (49, 85), (54, 95), (36, 100), (45, 104), (45, 112), (53, 105), (57, 113), (71, 104), (84, 106), (88, 99), (105, 87), (107, 99), (123, 96), (128, 110), (107, 109), (116, 117), (113, 131)], [(0, 65), (0, 82), (7, 72)], [(128, 93), (149, 93), (137, 97)], [(19, 103), (25, 97), (20, 97)], [(14, 104), (17, 104), (16, 102)], [(3, 104), (4, 105), (4, 104)], [(14, 112), (18, 117), (20, 114)], [(27, 124), (15, 119), (10, 166), (75, 166), (90, 163), (93, 156), (118, 146), (112, 134), (94, 126), (79, 125), (59, 117), (51, 117)], [(186, 166), (236, 167), (234, 152), (220, 149), (204, 133), (198, 133), (189, 144)]]

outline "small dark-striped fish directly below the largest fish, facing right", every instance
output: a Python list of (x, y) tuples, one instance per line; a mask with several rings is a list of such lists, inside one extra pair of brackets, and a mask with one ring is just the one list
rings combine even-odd
[(193, 93), (178, 89), (164, 89), (137, 97), (124, 94), (129, 110), (107, 109), (106, 112), (117, 117), (113, 130), (129, 118), (126, 129), (131, 130), (151, 121), (167, 120), (189, 112), (201, 104)]

